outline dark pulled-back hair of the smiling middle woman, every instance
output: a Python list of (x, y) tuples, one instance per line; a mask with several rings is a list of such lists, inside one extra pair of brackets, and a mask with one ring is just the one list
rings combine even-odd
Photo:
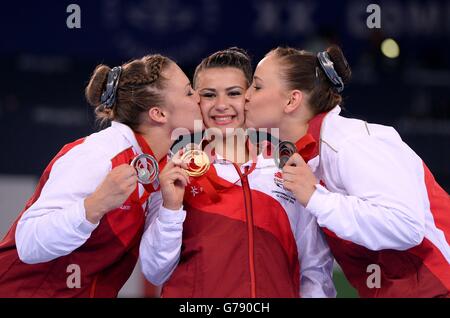
[(233, 67), (244, 73), (247, 86), (250, 86), (253, 77), (252, 61), (248, 53), (238, 47), (230, 47), (225, 50), (217, 51), (210, 56), (204, 58), (197, 66), (194, 73), (194, 88), (197, 84), (198, 74), (208, 68), (225, 68)]

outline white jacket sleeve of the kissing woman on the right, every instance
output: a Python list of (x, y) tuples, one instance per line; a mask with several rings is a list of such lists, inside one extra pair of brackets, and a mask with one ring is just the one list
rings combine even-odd
[(375, 137), (351, 139), (330, 164), (347, 194), (320, 185), (307, 210), (342, 239), (370, 250), (406, 250), (420, 244), (425, 209), (417, 165), (402, 142)]

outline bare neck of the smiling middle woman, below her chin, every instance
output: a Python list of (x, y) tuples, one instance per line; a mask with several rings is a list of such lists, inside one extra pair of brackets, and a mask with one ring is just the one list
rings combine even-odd
[(223, 139), (215, 143), (216, 153), (226, 160), (234, 163), (245, 163), (250, 160), (248, 148), (246, 146), (247, 137), (244, 131), (236, 130), (235, 133), (225, 135)]

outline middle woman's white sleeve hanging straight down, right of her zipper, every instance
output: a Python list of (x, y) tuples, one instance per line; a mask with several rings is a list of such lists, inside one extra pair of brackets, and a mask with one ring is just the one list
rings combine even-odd
[(336, 297), (333, 256), (314, 216), (300, 209), (296, 228), (302, 298)]

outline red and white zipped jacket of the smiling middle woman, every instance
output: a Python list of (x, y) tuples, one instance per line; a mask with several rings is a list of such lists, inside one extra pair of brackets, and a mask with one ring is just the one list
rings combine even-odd
[(335, 296), (315, 217), (300, 213), (272, 158), (250, 166), (218, 159), (192, 178), (182, 209), (150, 211), (140, 261), (163, 297)]

